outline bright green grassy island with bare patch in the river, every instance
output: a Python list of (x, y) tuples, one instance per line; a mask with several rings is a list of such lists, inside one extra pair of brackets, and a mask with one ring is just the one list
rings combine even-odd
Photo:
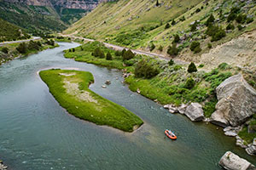
[(90, 72), (48, 70), (40, 71), (39, 75), (49, 92), (73, 116), (125, 132), (132, 132), (143, 124), (131, 111), (92, 92), (88, 88), (94, 82)]

